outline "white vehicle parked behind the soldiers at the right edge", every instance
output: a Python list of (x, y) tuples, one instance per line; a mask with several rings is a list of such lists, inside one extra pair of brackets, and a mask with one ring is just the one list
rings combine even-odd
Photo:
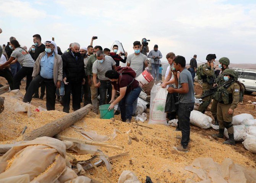
[(251, 94), (256, 92), (256, 70), (233, 68), (238, 72), (238, 81), (245, 87), (245, 92)]

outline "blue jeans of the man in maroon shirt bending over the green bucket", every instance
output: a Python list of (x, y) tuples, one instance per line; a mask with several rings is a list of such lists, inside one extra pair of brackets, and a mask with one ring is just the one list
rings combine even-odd
[(122, 120), (131, 120), (131, 115), (133, 115), (133, 103), (138, 99), (140, 93), (141, 87), (137, 87), (128, 94), (125, 94), (123, 99), (119, 102)]

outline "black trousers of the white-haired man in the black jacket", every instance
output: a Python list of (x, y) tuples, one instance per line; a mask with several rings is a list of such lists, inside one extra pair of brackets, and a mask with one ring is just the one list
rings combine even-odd
[(72, 107), (73, 110), (78, 110), (81, 108), (81, 82), (69, 82), (65, 84), (65, 94), (63, 97), (63, 112), (69, 113), (70, 110), (70, 94), (72, 91)]

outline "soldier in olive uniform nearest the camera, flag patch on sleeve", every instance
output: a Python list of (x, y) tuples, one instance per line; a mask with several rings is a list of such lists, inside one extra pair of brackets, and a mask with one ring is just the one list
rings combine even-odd
[[(233, 69), (225, 69), (223, 75), (223, 79), (225, 81), (228, 81), (230, 79), (237, 80), (237, 72)], [(227, 128), (228, 140), (224, 141), (224, 144), (235, 145), (232, 118), (234, 109), (237, 107), (240, 99), (240, 90), (243, 90), (243, 86), (241, 86), (238, 81), (234, 81), (227, 88), (221, 87), (217, 90), (217, 92), (220, 92), (219, 96), (221, 96), (221, 98), (218, 99), (217, 104), (217, 120), (219, 121), (219, 134), (214, 134), (212, 136), (217, 138), (223, 138), (224, 129)]]

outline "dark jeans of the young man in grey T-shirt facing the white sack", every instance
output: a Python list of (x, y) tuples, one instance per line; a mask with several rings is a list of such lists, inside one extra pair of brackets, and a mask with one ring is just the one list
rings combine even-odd
[(181, 130), (181, 145), (184, 149), (188, 147), (190, 140), (190, 113), (194, 109), (194, 102), (189, 104), (180, 103), (178, 109), (179, 127)]

